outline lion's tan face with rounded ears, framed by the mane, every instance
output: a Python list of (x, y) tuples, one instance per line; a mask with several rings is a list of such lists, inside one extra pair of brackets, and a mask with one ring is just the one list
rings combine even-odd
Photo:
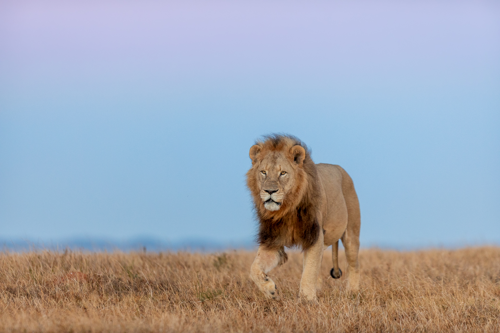
[[(305, 157), (300, 146), (285, 151), (262, 151), (258, 145), (252, 146), (250, 156), (253, 167), (251, 176), (259, 191), (260, 199), (268, 211), (277, 211), (286, 200), (287, 194), (296, 188), (296, 178)], [(298, 157), (297, 157), (298, 155)]]

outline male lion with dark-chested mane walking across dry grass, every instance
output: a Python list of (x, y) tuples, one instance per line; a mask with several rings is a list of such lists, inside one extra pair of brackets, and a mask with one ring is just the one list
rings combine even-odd
[(349, 175), (338, 165), (314, 164), (310, 150), (291, 135), (268, 135), (250, 148), (246, 173), (259, 220), (257, 256), (250, 277), (268, 298), (277, 287), (267, 272), (287, 260), (284, 247), (303, 250), (299, 296), (316, 301), (323, 251), (332, 246), (330, 275), (340, 278), (338, 239), (347, 258), (347, 289), (359, 288), (359, 202)]

